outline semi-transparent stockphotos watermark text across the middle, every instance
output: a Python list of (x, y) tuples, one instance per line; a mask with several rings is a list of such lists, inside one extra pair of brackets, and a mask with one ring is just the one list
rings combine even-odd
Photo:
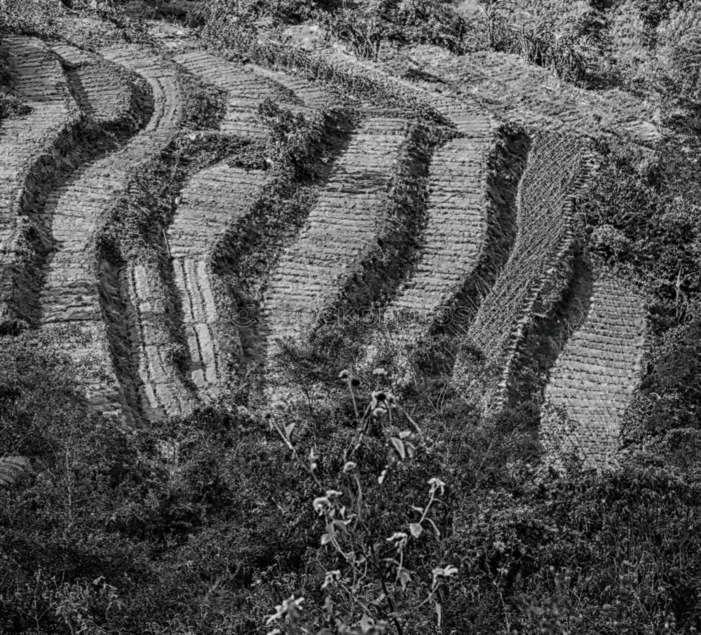
[(473, 311), (466, 306), (440, 306), (426, 309), (392, 309), (374, 306), (354, 308), (278, 308), (266, 312), (255, 304), (239, 308), (234, 322), (240, 327), (252, 327), (262, 315), (266, 322), (275, 324), (337, 324), (339, 326), (402, 327), (404, 325), (426, 325), (426, 327), (465, 328), (470, 324)]

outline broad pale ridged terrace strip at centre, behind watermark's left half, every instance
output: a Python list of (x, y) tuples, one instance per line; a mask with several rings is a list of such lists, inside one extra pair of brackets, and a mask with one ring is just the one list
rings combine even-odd
[[(400, 114), (367, 112), (294, 245), (271, 276), (265, 300), (269, 349), (279, 339), (311, 334), (322, 313), (378, 249), (390, 166), (401, 161), (409, 121)], [(388, 169), (390, 168), (390, 169)]]

